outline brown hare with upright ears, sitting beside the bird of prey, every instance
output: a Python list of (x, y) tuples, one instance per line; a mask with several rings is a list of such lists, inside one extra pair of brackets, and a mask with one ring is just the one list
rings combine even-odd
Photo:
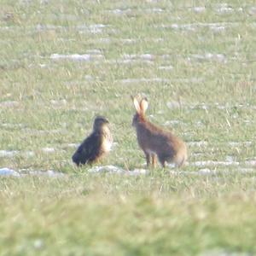
[(164, 131), (160, 127), (149, 122), (145, 117), (148, 108), (148, 101), (143, 98), (140, 102), (136, 97), (131, 96), (134, 107), (137, 111), (132, 119), (132, 126), (137, 131), (137, 142), (146, 156), (147, 166), (156, 165), (156, 156), (162, 167), (166, 162), (172, 162), (175, 166), (183, 166), (187, 160), (187, 147), (183, 141), (174, 136), (170, 131)]

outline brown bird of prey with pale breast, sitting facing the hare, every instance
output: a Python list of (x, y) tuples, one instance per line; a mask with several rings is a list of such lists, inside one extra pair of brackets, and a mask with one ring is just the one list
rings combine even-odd
[(72, 156), (72, 160), (77, 166), (92, 165), (110, 151), (113, 137), (108, 124), (108, 119), (103, 116), (96, 116), (92, 132)]

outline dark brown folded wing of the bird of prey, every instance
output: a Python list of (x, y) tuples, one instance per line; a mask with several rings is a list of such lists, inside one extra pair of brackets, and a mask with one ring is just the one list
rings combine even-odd
[(73, 161), (79, 166), (96, 160), (101, 152), (101, 145), (101, 135), (97, 132), (91, 133), (73, 154)]

